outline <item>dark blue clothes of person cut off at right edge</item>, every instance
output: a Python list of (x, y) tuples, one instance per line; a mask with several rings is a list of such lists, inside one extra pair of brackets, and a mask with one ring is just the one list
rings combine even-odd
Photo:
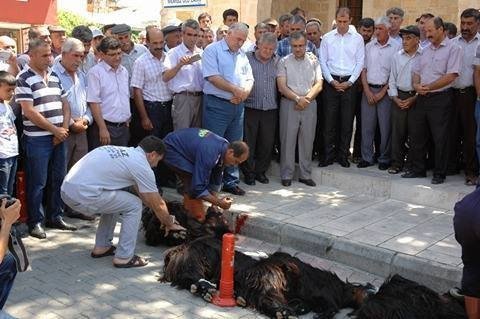
[(462, 293), (480, 298), (480, 188), (455, 204), (453, 225), (462, 246)]

